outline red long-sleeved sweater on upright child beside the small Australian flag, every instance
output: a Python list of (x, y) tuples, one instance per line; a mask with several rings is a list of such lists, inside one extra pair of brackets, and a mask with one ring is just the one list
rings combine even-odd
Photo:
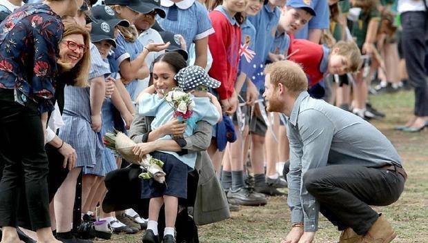
[(208, 47), (213, 55), (213, 65), (208, 74), (222, 83), (216, 91), (220, 99), (228, 99), (235, 90), (237, 69), (240, 61), (239, 50), (241, 28), (223, 6), (210, 12), (215, 34), (208, 37)]

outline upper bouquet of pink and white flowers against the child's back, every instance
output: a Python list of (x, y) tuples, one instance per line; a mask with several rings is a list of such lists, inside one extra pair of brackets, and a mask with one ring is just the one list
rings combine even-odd
[(181, 88), (173, 88), (165, 95), (165, 99), (173, 107), (174, 117), (179, 121), (186, 122), (192, 116), (195, 101), (190, 94), (185, 93)]

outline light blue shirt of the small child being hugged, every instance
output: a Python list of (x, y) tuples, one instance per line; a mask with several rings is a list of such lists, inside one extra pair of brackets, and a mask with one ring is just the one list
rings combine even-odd
[[(208, 122), (211, 126), (217, 124), (220, 114), (217, 108), (211, 103), (211, 100), (207, 97), (193, 97), (193, 100), (195, 101), (195, 108), (193, 108), (193, 115), (190, 119), (193, 119), (195, 124), (201, 120)], [(139, 115), (155, 117), (150, 125), (152, 130), (155, 130), (173, 118), (173, 108), (164, 98), (159, 97), (157, 94), (144, 93), (139, 101)], [(195, 127), (186, 126), (184, 137), (193, 135), (194, 129)], [(171, 140), (172, 137), (171, 135), (165, 135), (158, 140), (160, 139)], [(196, 153), (178, 155), (171, 151), (161, 150), (161, 152), (174, 155), (190, 168), (195, 168)]]

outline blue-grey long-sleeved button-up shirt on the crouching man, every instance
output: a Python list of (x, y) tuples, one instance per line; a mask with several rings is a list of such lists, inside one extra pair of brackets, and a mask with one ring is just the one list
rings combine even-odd
[(304, 188), (303, 175), (311, 168), (401, 166), (391, 142), (369, 122), (300, 93), (287, 119), (290, 172), (287, 175), (291, 222), (304, 222), (304, 231), (318, 230), (319, 204)]

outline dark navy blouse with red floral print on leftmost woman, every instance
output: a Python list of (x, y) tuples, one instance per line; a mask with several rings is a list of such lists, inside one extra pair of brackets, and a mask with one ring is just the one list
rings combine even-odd
[(38, 104), (54, 109), (59, 41), (64, 25), (46, 4), (18, 8), (0, 24), (0, 88), (19, 88)]

